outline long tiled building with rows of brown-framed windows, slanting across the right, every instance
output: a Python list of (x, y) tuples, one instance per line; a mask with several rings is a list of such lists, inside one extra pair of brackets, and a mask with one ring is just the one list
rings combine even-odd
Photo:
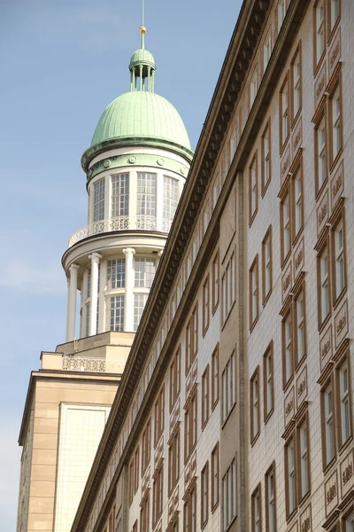
[(73, 531), (352, 532), (353, 22), (245, 0)]

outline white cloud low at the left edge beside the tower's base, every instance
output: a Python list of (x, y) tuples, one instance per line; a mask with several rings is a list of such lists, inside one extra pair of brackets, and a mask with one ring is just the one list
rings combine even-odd
[(1, 420), (0, 431), (0, 515), (2, 532), (16, 529), (21, 449), (18, 444), (18, 419)]

